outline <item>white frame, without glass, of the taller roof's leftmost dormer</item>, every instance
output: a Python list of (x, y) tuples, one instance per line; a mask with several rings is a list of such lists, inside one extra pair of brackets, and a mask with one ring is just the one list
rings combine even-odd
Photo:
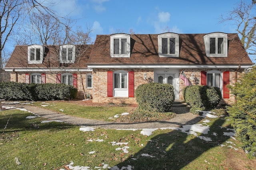
[[(114, 39), (119, 39), (119, 54), (114, 54)], [(121, 54), (121, 40), (126, 39), (126, 54)], [(129, 34), (118, 33), (110, 35), (110, 56), (111, 57), (130, 57), (131, 54), (131, 38)]]

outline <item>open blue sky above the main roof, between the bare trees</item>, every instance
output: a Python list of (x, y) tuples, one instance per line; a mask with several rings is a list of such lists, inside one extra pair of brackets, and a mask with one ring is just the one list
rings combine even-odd
[[(97, 34), (116, 30), (137, 34), (163, 33), (168, 27), (175, 33), (236, 33), (236, 27), (219, 23), (240, 0), (54, 0), (60, 14), (80, 18), (77, 25), (93, 29)], [(246, 0), (251, 2), (251, 0)]]

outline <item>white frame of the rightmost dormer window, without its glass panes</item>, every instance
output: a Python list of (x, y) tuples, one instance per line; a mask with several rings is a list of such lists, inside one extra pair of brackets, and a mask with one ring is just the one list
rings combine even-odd
[[(210, 54), (210, 38), (216, 38), (215, 54)], [(223, 54), (218, 54), (218, 38), (223, 38)], [(228, 57), (228, 35), (226, 33), (210, 33), (204, 35), (204, 45), (207, 57)]]

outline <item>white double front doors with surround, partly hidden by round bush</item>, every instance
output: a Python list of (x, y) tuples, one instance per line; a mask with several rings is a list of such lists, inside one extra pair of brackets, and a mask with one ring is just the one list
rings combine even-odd
[(175, 99), (179, 99), (179, 70), (174, 68), (154, 69), (154, 82), (171, 84), (174, 87)]

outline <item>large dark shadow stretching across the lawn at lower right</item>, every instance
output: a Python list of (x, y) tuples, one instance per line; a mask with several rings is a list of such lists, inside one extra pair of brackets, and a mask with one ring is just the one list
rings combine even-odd
[[(202, 136), (210, 137), (212, 141), (204, 141), (194, 135), (187, 135), (181, 131), (174, 130), (170, 133), (155, 136), (142, 150), (130, 156), (124, 162), (117, 164), (117, 166), (121, 168), (122, 166), (131, 165), (134, 166), (135, 170), (179, 170), (207, 150), (229, 139), (228, 136), (223, 136), (226, 128), (220, 128), (224, 121), (221, 118), (216, 119), (210, 126), (208, 134), (202, 134)], [(218, 135), (212, 135), (214, 132)], [(149, 154), (154, 157), (142, 156), (142, 154)], [(206, 167), (200, 167), (202, 164), (206, 164)], [(202, 164), (199, 164), (198, 168), (207, 169), (208, 164), (206, 162), (202, 162)], [(194, 168), (196, 169), (196, 167)]]

